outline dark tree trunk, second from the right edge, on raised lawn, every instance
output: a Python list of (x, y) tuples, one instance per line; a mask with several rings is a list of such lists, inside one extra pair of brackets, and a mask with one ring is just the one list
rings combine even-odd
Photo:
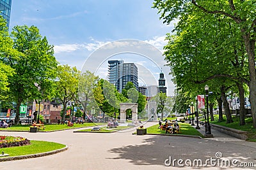
[(239, 99), (240, 99), (240, 110), (239, 110), (239, 117), (240, 117), (240, 125), (245, 125), (245, 108), (244, 108), (244, 87), (243, 83), (237, 83), (237, 87), (239, 90)]

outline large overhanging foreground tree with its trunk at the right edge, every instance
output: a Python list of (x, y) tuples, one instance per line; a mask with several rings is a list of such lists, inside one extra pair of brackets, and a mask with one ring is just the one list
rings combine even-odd
[[(176, 0), (161, 1), (156, 0), (154, 8), (159, 10), (164, 23), (170, 24), (174, 19), (180, 18), (186, 21), (189, 17), (195, 17), (200, 13), (205, 13), (215, 17), (216, 15), (227, 18), (230, 24), (236, 25), (236, 30), (242, 36), (248, 60), (248, 72), (250, 74), (250, 103), (252, 106), (253, 127), (256, 128), (256, 70), (255, 70), (255, 41), (256, 41), (256, 17), (255, 0), (253, 1), (195, 1)], [(204, 17), (202, 18), (202, 20)], [(226, 21), (227, 21), (226, 20)], [(212, 22), (212, 20), (205, 20)], [(179, 25), (178, 25), (179, 27)]]

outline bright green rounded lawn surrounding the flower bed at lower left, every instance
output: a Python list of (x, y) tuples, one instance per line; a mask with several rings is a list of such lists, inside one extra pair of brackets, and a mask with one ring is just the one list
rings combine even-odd
[(60, 143), (54, 143), (54, 142), (48, 142), (48, 141), (30, 141), (30, 142), (31, 142), (31, 145), (1, 148), (0, 151), (9, 154), (10, 157), (14, 157), (14, 156), (20, 156), (20, 155), (49, 152), (52, 150), (65, 148), (65, 145)]

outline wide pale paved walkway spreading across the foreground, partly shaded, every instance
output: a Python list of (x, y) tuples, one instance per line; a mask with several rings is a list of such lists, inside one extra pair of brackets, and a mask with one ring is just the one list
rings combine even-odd
[[(154, 124), (157, 123), (148, 122), (145, 127)], [(1, 135), (63, 143), (68, 146), (68, 150), (35, 159), (0, 162), (0, 169), (180, 169), (177, 162), (174, 162), (174, 167), (172, 164), (165, 166), (164, 162), (168, 163), (170, 158), (172, 162), (174, 159), (201, 159), (205, 162), (206, 159), (216, 159), (217, 152), (221, 152), (225, 159), (239, 159), (240, 162), (252, 162), (256, 166), (255, 143), (252, 143), (252, 146), (243, 145), (247, 142), (221, 134), (219, 136), (215, 131), (212, 131), (212, 134), (216, 137), (212, 139), (137, 136), (132, 135), (135, 128), (111, 134), (73, 131), (76, 130), (47, 133), (1, 131)], [(183, 169), (195, 168), (186, 166)], [(205, 168), (200, 167), (200, 169)], [(220, 169), (220, 167), (208, 164), (207, 169)], [(231, 169), (231, 167), (223, 167), (223, 169)], [(255, 167), (247, 169), (255, 169)]]

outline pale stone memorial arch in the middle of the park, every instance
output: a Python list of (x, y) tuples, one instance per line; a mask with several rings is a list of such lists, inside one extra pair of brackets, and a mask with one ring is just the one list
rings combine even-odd
[(120, 123), (126, 123), (126, 110), (132, 110), (132, 124), (138, 120), (138, 103), (120, 103)]

